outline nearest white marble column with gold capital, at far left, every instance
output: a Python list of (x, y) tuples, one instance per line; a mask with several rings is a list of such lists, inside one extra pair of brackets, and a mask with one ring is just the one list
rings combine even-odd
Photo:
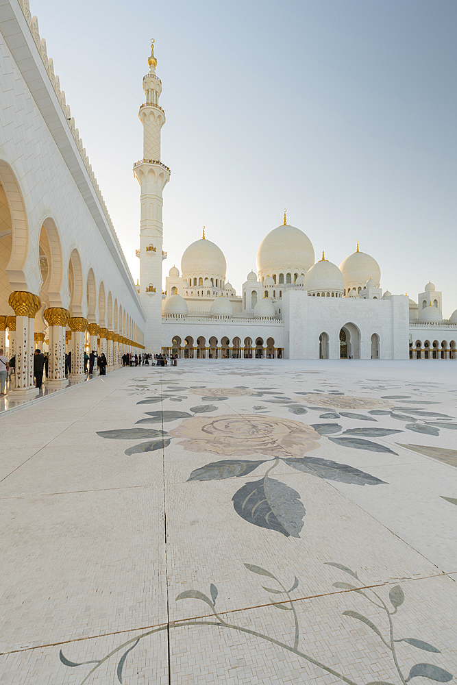
[(41, 300), (33, 292), (15, 290), (8, 298), (8, 304), (16, 314), (16, 369), (12, 393), (16, 397), (32, 397), (38, 394), (38, 388), (34, 387), (34, 319)]

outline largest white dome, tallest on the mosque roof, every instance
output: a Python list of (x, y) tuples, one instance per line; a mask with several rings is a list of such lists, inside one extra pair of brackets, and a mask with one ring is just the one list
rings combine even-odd
[(260, 277), (273, 273), (305, 273), (314, 264), (311, 241), (299, 228), (278, 226), (264, 237), (257, 251)]

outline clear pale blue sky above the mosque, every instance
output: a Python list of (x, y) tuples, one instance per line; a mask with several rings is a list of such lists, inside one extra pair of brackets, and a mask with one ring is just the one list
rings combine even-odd
[(153, 37), (164, 275), (205, 225), (240, 294), (286, 207), (317, 258), (359, 238), (384, 290), (457, 308), (455, 0), (30, 1), (135, 279)]

